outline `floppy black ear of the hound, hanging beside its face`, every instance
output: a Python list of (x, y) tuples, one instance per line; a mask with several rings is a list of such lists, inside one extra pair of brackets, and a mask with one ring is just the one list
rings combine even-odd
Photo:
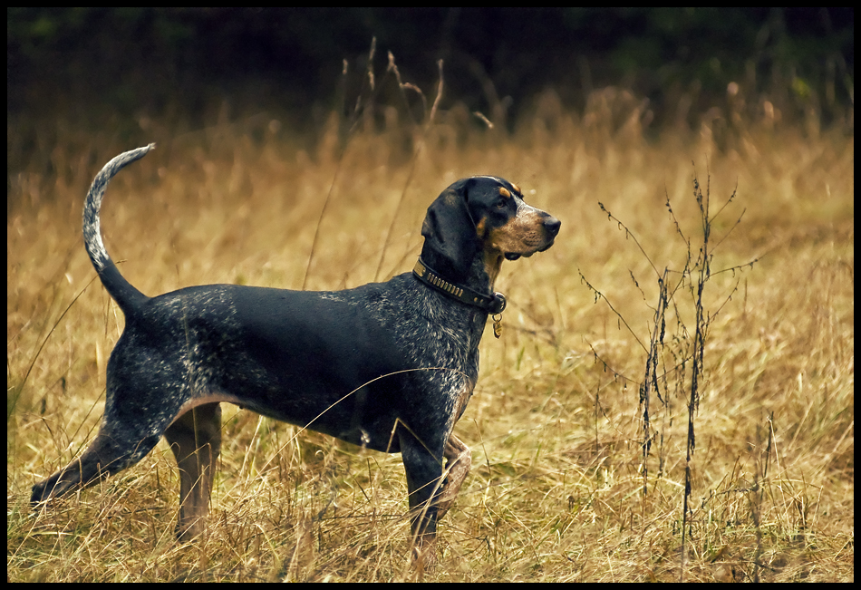
[(422, 259), (453, 280), (467, 275), (481, 245), (475, 221), (469, 215), (472, 185), (473, 179), (461, 179), (443, 190), (430, 204), (421, 225), (421, 235), (425, 238)]

